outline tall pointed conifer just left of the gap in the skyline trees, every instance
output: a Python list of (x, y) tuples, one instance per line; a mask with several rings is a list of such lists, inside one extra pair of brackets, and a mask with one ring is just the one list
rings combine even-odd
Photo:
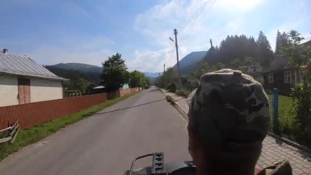
[(258, 39), (258, 56), (260, 58), (260, 64), (263, 67), (269, 67), (270, 62), (273, 59), (273, 52), (271, 50), (270, 42), (262, 31), (259, 31)]

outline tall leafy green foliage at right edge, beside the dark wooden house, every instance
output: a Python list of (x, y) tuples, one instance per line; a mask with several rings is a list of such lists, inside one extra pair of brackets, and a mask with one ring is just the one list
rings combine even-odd
[(296, 102), (293, 107), (295, 120), (295, 138), (299, 143), (311, 145), (311, 66), (310, 48), (300, 45), (304, 38), (295, 30), (287, 34), (287, 43), (281, 49), (281, 54), (286, 56), (290, 64), (296, 65), (302, 74), (302, 87), (294, 89)]

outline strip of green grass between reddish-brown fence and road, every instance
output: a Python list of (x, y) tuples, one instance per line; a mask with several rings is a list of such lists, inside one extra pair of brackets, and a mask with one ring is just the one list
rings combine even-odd
[(67, 125), (76, 123), (79, 120), (82, 120), (88, 116), (91, 116), (103, 110), (104, 108), (111, 106), (113, 104), (116, 104), (137, 93), (138, 92), (127, 94), (123, 97), (115, 98), (113, 100), (108, 100), (105, 103), (101, 103), (99, 105), (89, 107), (75, 114), (64, 116), (60, 119), (56, 119), (48, 123), (40, 124), (40, 125), (31, 127), (29, 129), (26, 129), (26, 130), (21, 130), (18, 133), (14, 143), (6, 142), (3, 144), (0, 144), (0, 161), (8, 157), (13, 152), (16, 152), (18, 149), (23, 148), (24, 146), (27, 146), (31, 143), (35, 143), (43, 138), (46, 138), (49, 135), (57, 132), (57, 130), (63, 127), (66, 127)]

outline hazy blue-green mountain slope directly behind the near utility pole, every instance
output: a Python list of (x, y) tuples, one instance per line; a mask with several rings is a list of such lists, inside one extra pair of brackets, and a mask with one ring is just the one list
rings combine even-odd
[[(181, 74), (190, 74), (195, 69), (196, 64), (201, 61), (206, 54), (207, 51), (191, 52), (182, 58), (179, 61)], [(173, 69), (177, 70), (177, 64), (173, 66)]]

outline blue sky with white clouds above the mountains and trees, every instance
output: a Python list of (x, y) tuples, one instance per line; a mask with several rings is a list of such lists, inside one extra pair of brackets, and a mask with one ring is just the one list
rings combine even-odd
[(256, 38), (259, 30), (273, 48), (278, 29), (295, 29), (311, 39), (311, 1), (213, 2), (5, 0), (0, 6), (0, 48), (48, 65), (101, 65), (119, 52), (129, 70), (157, 72), (164, 63), (176, 62), (174, 43), (168, 39), (174, 28), (179, 30), (181, 58), (208, 50), (209, 39), (219, 45), (227, 35)]

